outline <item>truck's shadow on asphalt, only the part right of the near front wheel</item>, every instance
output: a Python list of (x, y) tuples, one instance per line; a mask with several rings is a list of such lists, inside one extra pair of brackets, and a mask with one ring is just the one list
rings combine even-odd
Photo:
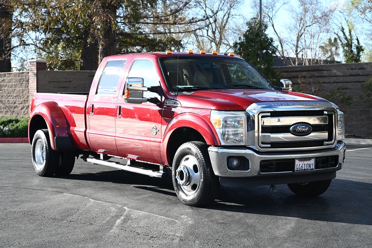
[(286, 185), (251, 188), (221, 187), (216, 203), (210, 209), (294, 217), (340, 223), (372, 225), (372, 184), (334, 179), (321, 196), (296, 196)]

